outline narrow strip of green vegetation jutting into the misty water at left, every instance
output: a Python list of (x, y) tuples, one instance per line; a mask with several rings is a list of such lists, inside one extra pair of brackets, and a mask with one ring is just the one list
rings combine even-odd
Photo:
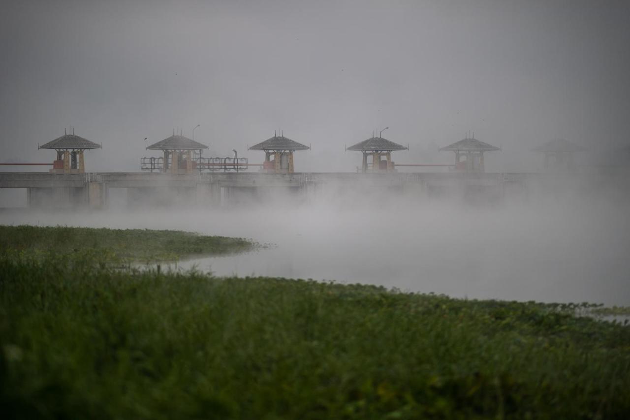
[(122, 260), (176, 260), (184, 255), (229, 254), (256, 244), (241, 238), (173, 230), (0, 226), (0, 252), (84, 254)]

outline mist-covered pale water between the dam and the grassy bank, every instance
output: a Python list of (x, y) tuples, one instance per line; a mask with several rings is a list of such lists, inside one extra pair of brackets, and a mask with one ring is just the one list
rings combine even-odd
[(312, 278), (454, 297), (630, 305), (630, 205), (625, 199), (566, 194), (471, 204), (339, 191), (301, 202), (278, 197), (274, 201), (282, 204), (251, 201), (219, 209), (4, 211), (0, 223), (186, 230), (274, 244), (177, 264), (217, 276)]

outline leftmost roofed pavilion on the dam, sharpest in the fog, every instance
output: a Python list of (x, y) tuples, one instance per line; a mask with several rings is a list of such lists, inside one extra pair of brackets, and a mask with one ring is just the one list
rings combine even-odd
[(52, 164), (50, 173), (84, 173), (85, 160), (83, 151), (87, 149), (100, 149), (101, 145), (84, 139), (74, 134), (64, 134), (53, 141), (49, 141), (38, 149), (55, 149), (57, 159)]

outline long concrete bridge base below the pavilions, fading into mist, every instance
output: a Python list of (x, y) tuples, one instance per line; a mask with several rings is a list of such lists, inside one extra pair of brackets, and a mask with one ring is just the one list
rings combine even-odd
[[(624, 177), (626, 180), (627, 177)], [(557, 185), (607, 184), (610, 174), (543, 173), (42, 173), (0, 172), (0, 188), (27, 190), (29, 207), (105, 207), (111, 189), (127, 189), (129, 204), (221, 206), (270, 191), (317, 194), (327, 187), (358, 194), (431, 195), (459, 191), (494, 199)], [(626, 184), (624, 182), (624, 184)]]

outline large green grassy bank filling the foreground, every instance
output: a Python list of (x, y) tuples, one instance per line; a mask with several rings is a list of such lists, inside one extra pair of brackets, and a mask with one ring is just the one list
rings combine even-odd
[(574, 315), (588, 305), (217, 279), (66, 257), (0, 257), (5, 418), (630, 413), (630, 329)]

